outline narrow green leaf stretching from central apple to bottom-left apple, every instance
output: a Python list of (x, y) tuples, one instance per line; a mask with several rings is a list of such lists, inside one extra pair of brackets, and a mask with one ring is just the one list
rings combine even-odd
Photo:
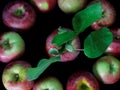
[(41, 59), (35, 68), (28, 68), (28, 79), (30, 81), (37, 79), (52, 63), (60, 61), (60, 57), (51, 57), (50, 59)]

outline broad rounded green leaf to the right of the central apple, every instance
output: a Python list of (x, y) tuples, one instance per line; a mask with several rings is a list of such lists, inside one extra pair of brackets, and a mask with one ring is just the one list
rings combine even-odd
[(108, 28), (91, 32), (84, 41), (84, 53), (89, 58), (102, 55), (112, 43), (113, 35)]

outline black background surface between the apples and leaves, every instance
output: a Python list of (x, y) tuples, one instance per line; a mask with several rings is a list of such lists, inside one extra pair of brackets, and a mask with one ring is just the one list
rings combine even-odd
[[(2, 22), (2, 11), (9, 1), (12, 0), (0, 0), (0, 34), (11, 30), (10, 28), (6, 27)], [(34, 26), (30, 30), (26, 32), (18, 32), (22, 36), (26, 44), (26, 50), (23, 56), (21, 56), (18, 60), (28, 61), (33, 67), (35, 67), (40, 59), (48, 58), (48, 55), (45, 51), (45, 43), (47, 36), (59, 26), (72, 29), (72, 17), (74, 16), (74, 14), (63, 13), (57, 5), (51, 12), (42, 13), (30, 2), (30, 0), (24, 1), (28, 2), (35, 9), (37, 19)], [(90, 1), (91, 0), (88, 0), (87, 3), (89, 3)], [(117, 13), (116, 21), (112, 27), (120, 27), (120, 1), (108, 1), (112, 3)], [(81, 48), (83, 48), (84, 38), (91, 31), (92, 29), (89, 27), (86, 29), (85, 32), (79, 35), (81, 40)], [(87, 58), (84, 53), (81, 52), (74, 61), (52, 64), (38, 79), (44, 76), (55, 76), (61, 81), (65, 90), (67, 80), (72, 73), (81, 70), (86, 70), (93, 73), (92, 66), (96, 60), (97, 58)], [(3, 69), (6, 65), (7, 63), (0, 62), (0, 76), (2, 76)], [(112, 85), (104, 85), (100, 81), (98, 82), (100, 84), (100, 90), (120, 90), (120, 80)], [(2, 79), (0, 80), (0, 89), (5, 90), (2, 84)]]

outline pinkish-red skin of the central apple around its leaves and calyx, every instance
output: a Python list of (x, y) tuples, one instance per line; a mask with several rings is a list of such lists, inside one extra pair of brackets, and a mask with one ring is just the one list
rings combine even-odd
[[(69, 30), (69, 29), (67, 29), (67, 30)], [(51, 43), (56, 34), (58, 34), (58, 29), (55, 29), (46, 39), (46, 52), (50, 57), (55, 56), (54, 54), (49, 54), (49, 50), (51, 48), (56, 48), (58, 50), (58, 47)], [(80, 49), (79, 37), (76, 37), (72, 41), (72, 46), (74, 47), (74, 49)], [(80, 53), (80, 50), (76, 50), (75, 52), (65, 51), (61, 54), (58, 54), (57, 56), (60, 56), (61, 62), (68, 62), (68, 61), (74, 60), (79, 55), (79, 53)]]

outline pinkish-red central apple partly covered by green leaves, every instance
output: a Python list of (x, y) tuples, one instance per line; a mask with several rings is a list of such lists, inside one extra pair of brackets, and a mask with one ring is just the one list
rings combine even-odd
[[(69, 30), (69, 29), (66, 29)], [(55, 44), (52, 44), (52, 40), (54, 38), (55, 35), (58, 34), (58, 28), (55, 29), (46, 39), (46, 52), (47, 54), (51, 57), (51, 56), (60, 56), (61, 58), (61, 62), (67, 62), (67, 61), (72, 61), (74, 60), (80, 53), (80, 39), (79, 37), (76, 37), (74, 40), (72, 40), (70, 42), (70, 44), (72, 45), (72, 47), (74, 48), (73, 52), (70, 52), (68, 50), (65, 49), (65, 45), (61, 46), (61, 47), (57, 47)], [(55, 52), (56, 53), (51, 53), (51, 52)], [(57, 53), (60, 52), (60, 53)]]

